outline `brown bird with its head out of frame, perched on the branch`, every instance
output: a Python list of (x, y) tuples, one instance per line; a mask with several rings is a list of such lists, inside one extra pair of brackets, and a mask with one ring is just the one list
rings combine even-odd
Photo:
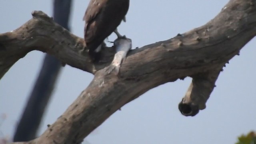
[(90, 0), (84, 14), (84, 40), (93, 61), (100, 58), (101, 44), (112, 32), (118, 38), (117, 27), (125, 20), (130, 0)]

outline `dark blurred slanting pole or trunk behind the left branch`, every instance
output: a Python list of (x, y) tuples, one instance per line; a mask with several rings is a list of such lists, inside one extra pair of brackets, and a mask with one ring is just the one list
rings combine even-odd
[[(54, 20), (68, 30), (71, 2), (72, 0), (54, 0)], [(36, 137), (60, 70), (61, 62), (46, 54), (36, 84), (16, 128), (14, 142), (29, 141)]]

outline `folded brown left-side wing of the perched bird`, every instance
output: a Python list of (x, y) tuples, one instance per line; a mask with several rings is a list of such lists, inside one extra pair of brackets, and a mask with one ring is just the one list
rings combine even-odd
[(84, 14), (83, 20), (85, 20), (84, 28), (84, 39), (86, 42), (90, 42), (94, 39), (96, 33), (96, 17), (102, 10), (103, 6), (106, 5), (107, 0), (91, 0), (86, 12)]

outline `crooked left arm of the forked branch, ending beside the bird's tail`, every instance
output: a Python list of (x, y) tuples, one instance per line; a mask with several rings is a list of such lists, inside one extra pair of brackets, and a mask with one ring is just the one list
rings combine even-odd
[(0, 78), (32, 50), (47, 52), (71, 66), (93, 71), (90, 59), (80, 54), (84, 39), (71, 34), (41, 11), (34, 11), (32, 15), (20, 28), (0, 34)]

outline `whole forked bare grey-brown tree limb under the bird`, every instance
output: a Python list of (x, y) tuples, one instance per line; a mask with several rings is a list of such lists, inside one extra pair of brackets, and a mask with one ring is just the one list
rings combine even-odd
[(86, 48), (82, 38), (70, 34), (44, 13), (33, 12), (26, 24), (0, 34), (1, 77), (28, 52), (40, 50), (94, 74), (94, 79), (40, 137), (24, 144), (80, 143), (124, 104), (151, 88), (186, 76), (193, 80), (180, 109), (184, 115), (193, 116), (205, 108), (224, 64), (256, 35), (255, 6), (254, 0), (230, 0), (204, 26), (131, 50), (118, 76), (104, 73), (113, 58), (111, 48), (105, 48), (106, 63), (95, 65), (88, 53), (81, 53)]

